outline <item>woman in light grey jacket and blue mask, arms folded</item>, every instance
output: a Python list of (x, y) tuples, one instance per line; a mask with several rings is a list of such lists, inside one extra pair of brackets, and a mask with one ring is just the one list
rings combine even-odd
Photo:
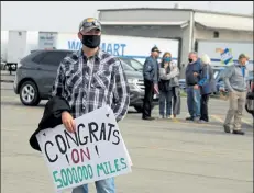
[[(172, 115), (172, 87), (170, 79), (178, 76), (179, 71), (170, 70), (172, 54), (165, 53), (159, 68), (159, 115), (161, 118), (170, 118)], [(165, 112), (166, 105), (166, 112)]]

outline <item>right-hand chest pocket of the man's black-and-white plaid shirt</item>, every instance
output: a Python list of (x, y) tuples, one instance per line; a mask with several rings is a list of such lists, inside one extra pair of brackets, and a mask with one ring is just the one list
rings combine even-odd
[(111, 71), (102, 69), (93, 73), (91, 87), (96, 89), (108, 89), (111, 79)]

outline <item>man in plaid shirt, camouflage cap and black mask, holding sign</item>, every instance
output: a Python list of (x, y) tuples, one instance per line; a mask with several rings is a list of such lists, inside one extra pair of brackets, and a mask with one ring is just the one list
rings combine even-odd
[[(103, 105), (109, 105), (119, 122), (128, 112), (130, 89), (121, 61), (99, 49), (101, 25), (96, 19), (84, 20), (78, 38), (82, 48), (64, 58), (53, 86), (53, 96), (63, 96), (71, 113), (63, 112), (62, 122), (75, 132), (74, 118)], [(97, 193), (114, 193), (114, 179), (96, 182)], [(88, 193), (88, 185), (75, 188), (73, 193)]]

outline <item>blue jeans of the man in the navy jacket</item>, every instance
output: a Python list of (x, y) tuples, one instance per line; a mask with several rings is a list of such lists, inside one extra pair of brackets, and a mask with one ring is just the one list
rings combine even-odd
[(200, 117), (200, 90), (195, 90), (194, 87), (187, 88), (187, 105), (192, 118)]

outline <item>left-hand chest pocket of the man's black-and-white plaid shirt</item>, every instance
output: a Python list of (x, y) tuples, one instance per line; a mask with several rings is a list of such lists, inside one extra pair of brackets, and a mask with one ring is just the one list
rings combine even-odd
[(66, 73), (65, 87), (69, 94), (77, 93), (82, 82), (82, 73), (79, 70), (71, 70)]

